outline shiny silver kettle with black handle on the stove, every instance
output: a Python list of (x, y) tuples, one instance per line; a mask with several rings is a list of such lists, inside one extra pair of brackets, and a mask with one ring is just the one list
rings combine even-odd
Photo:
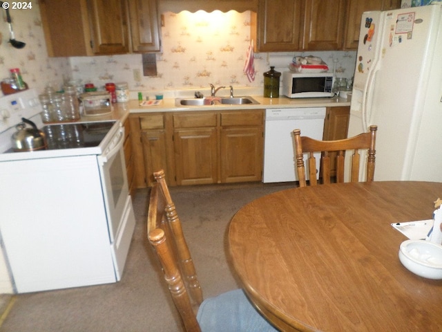
[[(12, 134), (12, 149), (14, 151), (37, 151), (46, 149), (46, 136), (43, 131), (37, 128), (37, 125), (26, 118), (15, 128), (17, 131)], [(26, 127), (30, 124), (32, 128)]]

